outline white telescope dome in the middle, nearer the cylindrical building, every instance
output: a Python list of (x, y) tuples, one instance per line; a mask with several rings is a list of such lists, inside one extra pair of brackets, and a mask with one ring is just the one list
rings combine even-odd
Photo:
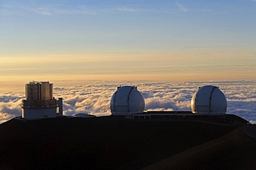
[(113, 115), (143, 113), (145, 100), (136, 86), (120, 86), (111, 97), (110, 109)]

